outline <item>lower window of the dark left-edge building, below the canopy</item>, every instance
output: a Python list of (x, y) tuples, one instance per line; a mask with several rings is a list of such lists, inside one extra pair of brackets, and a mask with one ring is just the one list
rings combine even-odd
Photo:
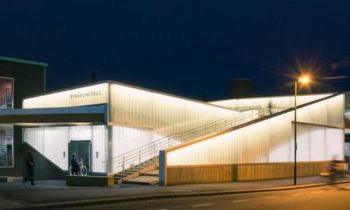
[(0, 167), (13, 166), (13, 126), (0, 125)]

